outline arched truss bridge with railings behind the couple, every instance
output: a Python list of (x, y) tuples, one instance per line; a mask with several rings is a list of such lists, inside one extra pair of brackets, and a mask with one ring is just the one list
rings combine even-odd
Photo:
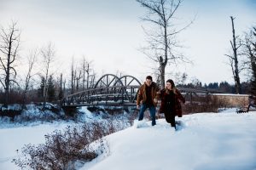
[[(93, 88), (82, 92), (67, 95), (61, 102), (64, 107), (88, 105), (136, 105), (138, 88), (141, 82), (136, 77), (117, 77), (113, 74), (102, 76)], [(178, 88), (183, 94), (192, 95), (209, 94), (207, 90)]]

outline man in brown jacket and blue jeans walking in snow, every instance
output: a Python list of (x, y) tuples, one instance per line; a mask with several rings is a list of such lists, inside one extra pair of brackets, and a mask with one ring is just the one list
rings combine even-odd
[(144, 112), (146, 109), (149, 109), (152, 126), (155, 125), (155, 107), (157, 105), (159, 91), (160, 88), (152, 81), (152, 77), (146, 77), (146, 82), (139, 88), (137, 94), (137, 109), (140, 109), (139, 121), (143, 120)]

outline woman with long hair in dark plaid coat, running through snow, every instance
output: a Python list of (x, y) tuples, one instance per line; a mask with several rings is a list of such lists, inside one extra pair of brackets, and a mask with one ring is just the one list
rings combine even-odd
[(175, 88), (175, 84), (171, 79), (166, 81), (166, 88), (160, 91), (160, 98), (160, 113), (164, 113), (166, 116), (166, 122), (171, 123), (171, 126), (176, 129), (175, 116), (182, 116), (182, 107), (180, 102), (185, 103), (185, 99), (177, 88)]

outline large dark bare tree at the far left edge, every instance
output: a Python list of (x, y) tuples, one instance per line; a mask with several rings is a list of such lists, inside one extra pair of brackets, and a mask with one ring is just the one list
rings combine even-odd
[[(17, 22), (12, 22), (8, 29), (1, 27), (0, 31), (0, 82), (4, 88), (4, 105), (9, 105), (9, 88), (15, 82), (15, 60), (20, 46), (20, 30)], [(16, 82), (15, 82), (16, 83)]]

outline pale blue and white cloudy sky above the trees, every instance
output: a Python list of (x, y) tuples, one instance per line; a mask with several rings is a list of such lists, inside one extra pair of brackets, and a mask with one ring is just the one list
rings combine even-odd
[[(166, 68), (166, 78), (186, 72), (189, 79), (203, 83), (233, 83), (227, 57), (232, 38), (230, 16), (236, 17), (236, 35), (256, 25), (255, 0), (184, 0), (178, 8), (181, 26), (195, 17), (193, 25), (181, 32), (179, 49), (193, 61)], [(122, 74), (143, 81), (158, 67), (141, 52), (145, 45), (142, 17), (146, 14), (135, 0), (0, 0), (0, 25), (17, 20), (21, 30), (20, 57), (29, 50), (55, 44), (55, 64), (51, 71), (70, 77), (72, 59), (92, 61), (97, 77)], [(20, 59), (20, 72), (26, 62)], [(38, 65), (40, 67), (40, 65)], [(247, 77), (241, 76), (241, 82)], [(189, 82), (189, 80), (187, 81)]]

